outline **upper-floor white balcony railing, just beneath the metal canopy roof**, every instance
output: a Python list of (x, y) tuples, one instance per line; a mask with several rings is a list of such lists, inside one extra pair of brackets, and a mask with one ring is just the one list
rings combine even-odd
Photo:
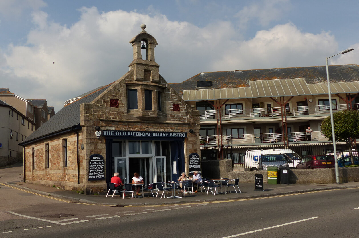
[[(352, 108), (353, 110), (359, 110), (359, 104), (352, 104)], [(332, 105), (332, 109), (334, 112), (346, 110), (347, 105), (346, 104)], [(325, 115), (325, 114), (330, 114), (330, 107), (329, 105), (285, 107), (285, 114), (287, 117)], [(241, 118), (250, 119), (250, 118), (263, 118), (263, 117), (280, 118), (280, 116), (281, 116), (280, 107), (221, 110), (222, 119), (241, 119)], [(200, 120), (216, 120), (216, 111), (215, 110), (200, 111)]]

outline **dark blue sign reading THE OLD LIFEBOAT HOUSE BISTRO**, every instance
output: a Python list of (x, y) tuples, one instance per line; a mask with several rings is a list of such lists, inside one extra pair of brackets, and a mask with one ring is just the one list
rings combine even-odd
[(186, 132), (139, 132), (139, 131), (103, 131), (102, 136), (128, 136), (128, 137), (180, 137), (186, 138)]

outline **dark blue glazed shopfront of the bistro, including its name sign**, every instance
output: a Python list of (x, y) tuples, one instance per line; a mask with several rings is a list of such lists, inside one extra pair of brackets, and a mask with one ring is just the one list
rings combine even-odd
[(187, 133), (105, 130), (102, 136), (106, 139), (107, 183), (116, 172), (125, 183), (131, 183), (137, 172), (149, 184), (177, 180), (186, 171)]

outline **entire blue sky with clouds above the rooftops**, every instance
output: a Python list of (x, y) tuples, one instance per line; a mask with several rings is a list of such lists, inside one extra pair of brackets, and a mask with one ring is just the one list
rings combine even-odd
[[(121, 78), (140, 24), (167, 82), (201, 72), (359, 63), (359, 1), (0, 0), (0, 88), (64, 101)], [(55, 63), (53, 63), (55, 62)]]

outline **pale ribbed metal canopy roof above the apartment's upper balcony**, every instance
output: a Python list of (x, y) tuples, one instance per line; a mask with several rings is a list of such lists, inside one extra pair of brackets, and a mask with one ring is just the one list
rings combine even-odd
[[(183, 90), (185, 101), (321, 95), (328, 93), (326, 83), (308, 84), (303, 78), (249, 81), (250, 87)], [(359, 82), (330, 83), (332, 93), (358, 93)]]

